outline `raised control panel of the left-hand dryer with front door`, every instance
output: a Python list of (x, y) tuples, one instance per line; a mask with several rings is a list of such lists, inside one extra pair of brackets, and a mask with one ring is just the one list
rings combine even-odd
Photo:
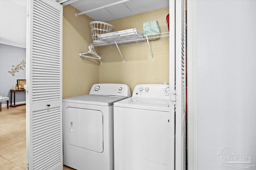
[(126, 84), (94, 84), (90, 94), (105, 96), (131, 96), (130, 88)]

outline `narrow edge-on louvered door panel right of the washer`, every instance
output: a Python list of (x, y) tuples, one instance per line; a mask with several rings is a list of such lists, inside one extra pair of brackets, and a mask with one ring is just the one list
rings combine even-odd
[(175, 169), (186, 169), (186, 3), (175, 1)]

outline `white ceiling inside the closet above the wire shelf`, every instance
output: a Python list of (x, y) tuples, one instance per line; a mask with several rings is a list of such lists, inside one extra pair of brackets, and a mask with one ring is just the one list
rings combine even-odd
[[(120, 0), (78, 0), (72, 2), (74, 8), (85, 12)], [(129, 0), (113, 6), (86, 13), (94, 21), (110, 21), (126, 16), (141, 14), (148, 11), (169, 7), (169, 0)]]

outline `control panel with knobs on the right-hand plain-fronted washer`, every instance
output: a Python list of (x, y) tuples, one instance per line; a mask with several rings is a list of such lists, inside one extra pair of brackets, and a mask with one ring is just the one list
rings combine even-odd
[(169, 98), (168, 84), (138, 84), (135, 86), (132, 97), (142, 98)]

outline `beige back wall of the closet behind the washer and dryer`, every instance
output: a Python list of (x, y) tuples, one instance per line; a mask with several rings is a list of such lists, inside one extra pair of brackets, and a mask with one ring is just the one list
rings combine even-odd
[[(157, 20), (160, 32), (168, 32), (166, 16), (169, 8), (163, 8), (152, 12), (146, 12), (126, 18), (107, 21), (114, 26), (113, 31), (136, 28), (143, 33), (143, 23)], [(151, 60), (147, 43), (120, 46), (120, 51), (125, 62), (116, 47), (96, 49), (102, 57), (100, 64), (100, 83), (127, 84), (131, 92), (136, 84), (164, 84), (169, 82), (169, 41), (152, 41), (150, 47), (154, 55)]]

